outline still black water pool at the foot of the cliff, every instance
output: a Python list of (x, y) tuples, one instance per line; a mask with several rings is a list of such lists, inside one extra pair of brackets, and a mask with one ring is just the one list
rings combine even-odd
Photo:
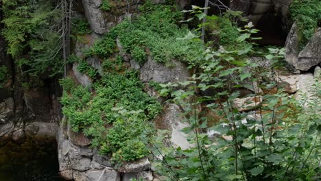
[(54, 139), (0, 140), (0, 181), (62, 181)]

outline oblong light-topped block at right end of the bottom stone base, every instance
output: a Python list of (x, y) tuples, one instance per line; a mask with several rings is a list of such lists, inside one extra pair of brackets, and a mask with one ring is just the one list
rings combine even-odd
[(117, 168), (117, 171), (128, 173), (128, 172), (141, 172), (150, 169), (150, 160), (148, 158), (141, 158), (133, 162), (128, 162)]

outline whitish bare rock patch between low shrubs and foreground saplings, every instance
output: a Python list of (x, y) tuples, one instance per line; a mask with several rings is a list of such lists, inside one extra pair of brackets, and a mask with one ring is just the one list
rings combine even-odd
[(189, 126), (187, 123), (183, 122), (181, 114), (182, 111), (176, 104), (166, 104), (163, 108), (163, 112), (155, 119), (156, 126), (158, 129), (171, 130), (171, 143), (176, 147), (187, 149), (193, 147), (193, 145), (187, 141), (187, 135), (181, 132), (182, 129)]

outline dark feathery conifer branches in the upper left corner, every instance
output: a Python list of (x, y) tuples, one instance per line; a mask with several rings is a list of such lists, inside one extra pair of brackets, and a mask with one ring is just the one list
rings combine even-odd
[(3, 1), (2, 34), (8, 42), (8, 53), (27, 72), (38, 75), (49, 71), (61, 73), (60, 34), (61, 14), (53, 1)]

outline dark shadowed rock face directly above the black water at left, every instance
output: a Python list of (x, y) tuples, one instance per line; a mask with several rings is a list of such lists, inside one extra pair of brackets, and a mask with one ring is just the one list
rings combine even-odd
[(0, 139), (23, 142), (26, 136), (54, 137), (60, 120), (60, 86), (56, 77), (30, 77), (6, 54), (0, 36)]

